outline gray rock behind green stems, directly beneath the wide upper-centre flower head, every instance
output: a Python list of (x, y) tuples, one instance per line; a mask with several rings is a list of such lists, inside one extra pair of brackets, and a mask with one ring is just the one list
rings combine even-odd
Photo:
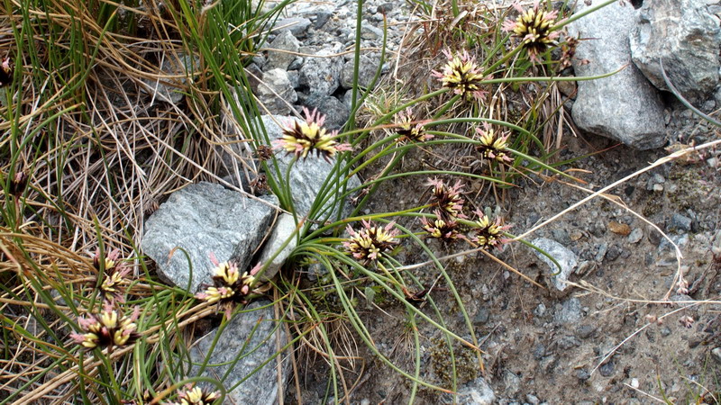
[[(269, 139), (278, 139), (282, 136), (282, 132), (278, 124), (273, 121), (269, 115), (263, 115), (260, 117), (263, 121), (266, 131), (268, 132)], [(279, 122), (287, 122), (294, 120), (292, 117), (275, 117)], [(286, 155), (285, 153), (278, 153), (278, 167), (281, 173), (286, 173), (287, 165), (292, 160), (292, 156)], [(315, 202), (315, 197), (321, 189), (321, 186), (325, 182), (325, 178), (330, 175), (333, 169), (333, 165), (326, 162), (320, 157), (308, 157), (305, 160), (300, 159), (296, 162), (290, 171), (290, 188), (292, 190), (291, 195), (293, 196), (293, 205), (297, 211), (299, 217), (305, 217), (310, 211), (311, 206)], [(338, 185), (340, 187), (340, 185)], [(352, 176), (347, 182), (348, 190), (360, 186), (360, 180), (357, 176)], [(334, 218), (338, 212), (337, 209), (333, 210), (331, 215), (331, 208), (333, 206), (333, 198), (337, 198), (341, 190), (335, 190), (330, 193), (331, 198), (324, 204), (325, 216), (331, 216)], [(344, 204), (343, 214), (347, 215), (350, 213), (351, 207), (346, 202)]]

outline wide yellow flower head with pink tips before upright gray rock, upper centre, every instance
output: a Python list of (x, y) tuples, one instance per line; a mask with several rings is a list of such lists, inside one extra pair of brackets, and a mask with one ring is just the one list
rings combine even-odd
[(337, 152), (343, 150), (351, 150), (348, 144), (339, 144), (333, 139), (338, 131), (328, 132), (323, 127), (325, 116), (321, 115), (316, 109), (308, 112), (307, 108), (303, 108), (306, 114), (306, 121), (298, 122), (293, 120), (283, 128), (283, 137), (273, 141), (276, 148), (285, 149), (288, 154), (293, 153), (297, 157), (306, 158), (308, 153), (317, 156), (323, 155), (325, 160), (330, 161)]

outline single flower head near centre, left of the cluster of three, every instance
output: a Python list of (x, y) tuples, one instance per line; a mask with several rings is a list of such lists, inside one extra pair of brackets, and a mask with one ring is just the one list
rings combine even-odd
[(378, 260), (385, 252), (391, 250), (398, 244), (396, 239), (398, 230), (394, 229), (395, 222), (390, 222), (385, 228), (374, 225), (369, 220), (362, 220), (363, 227), (353, 230), (348, 225), (348, 233), (351, 238), (343, 242), (352, 257), (363, 265), (373, 260)]

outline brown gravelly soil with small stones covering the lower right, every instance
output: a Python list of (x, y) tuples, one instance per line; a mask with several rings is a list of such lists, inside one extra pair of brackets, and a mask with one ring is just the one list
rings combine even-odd
[[(677, 112), (672, 113), (679, 116)], [(684, 133), (698, 134), (698, 120), (687, 117), (670, 126), (681, 127)], [(718, 130), (703, 126), (698, 136), (717, 138)], [(472, 205), (501, 207), (507, 223), (513, 224), (510, 230), (519, 235), (589, 195), (574, 185), (598, 190), (668, 155), (663, 149), (639, 152), (593, 136), (569, 137), (564, 143), (561, 160), (593, 154), (561, 166), (575, 169), (570, 173), (587, 184), (558, 176), (543, 182), (531, 175), (496, 198), (474, 192), (474, 184), (467, 183), (465, 198)], [(563, 292), (551, 283), (549, 267), (518, 243), (495, 252), (497, 257), (543, 288), (483, 255), (445, 261), (484, 352), (481, 373), (470, 350), (454, 346), (459, 388), (482, 376), (497, 403), (653, 403), (664, 396), (687, 403), (704, 394), (704, 401), (714, 403), (711, 395), (718, 398), (721, 392), (721, 358), (712, 355), (721, 346), (721, 257), (712, 255), (711, 244), (721, 232), (721, 169), (708, 161), (714, 163), (715, 153), (705, 151), (691, 162), (637, 175), (605, 193), (606, 199), (597, 197), (526, 236), (551, 238), (576, 255), (580, 265), (570, 275), (573, 285)], [(439, 156), (409, 154), (402, 170), (442, 165)], [(388, 182), (369, 212), (416, 206), (427, 198), (424, 182), (417, 177)], [(678, 266), (671, 244), (639, 215), (680, 247), (688, 293), (679, 293), (674, 284)], [(417, 220), (400, 222), (420, 229)], [(437, 256), (469, 248), (461, 242), (456, 247), (429, 246)], [(415, 248), (401, 250), (396, 258), (404, 264), (428, 259)], [(437, 271), (424, 266), (416, 275), (430, 285)], [(448, 285), (439, 283), (431, 297), (449, 329), (470, 339)], [(424, 312), (433, 316), (428, 305)], [(383, 311), (363, 311), (363, 316), (379, 351), (412, 372), (415, 352), (405, 311), (390, 305)], [(422, 378), (450, 388), (452, 365), (443, 333), (422, 320), (418, 325)], [(366, 362), (352, 402), (406, 402), (411, 383), (359, 346)], [(325, 387), (326, 371), (316, 371), (310, 377), (314, 383), (306, 387)], [(306, 401), (324, 397), (313, 389), (304, 392)], [(428, 389), (419, 390), (416, 398), (416, 403), (439, 401), (452, 399)]]

